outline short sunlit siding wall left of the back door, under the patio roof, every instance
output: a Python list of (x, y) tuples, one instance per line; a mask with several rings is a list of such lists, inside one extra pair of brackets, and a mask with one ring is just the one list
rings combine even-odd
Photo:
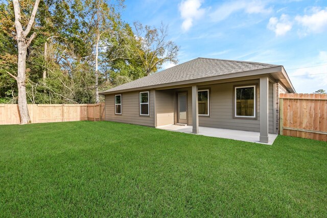
[(175, 97), (172, 90), (155, 91), (157, 126), (174, 124)]

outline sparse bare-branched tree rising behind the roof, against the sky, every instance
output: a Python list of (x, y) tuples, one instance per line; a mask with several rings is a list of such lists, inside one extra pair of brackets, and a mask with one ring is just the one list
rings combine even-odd
[(161, 23), (159, 28), (155, 28), (134, 22), (134, 28), (139, 47), (135, 54), (145, 69), (145, 76), (156, 72), (165, 62), (178, 63), (179, 47), (167, 39), (168, 26)]

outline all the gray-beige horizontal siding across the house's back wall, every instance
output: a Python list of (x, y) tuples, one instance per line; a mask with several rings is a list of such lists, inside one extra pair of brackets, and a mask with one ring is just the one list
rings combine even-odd
[[(258, 119), (233, 118), (233, 87), (235, 85), (256, 84)], [(260, 93), (259, 80), (222, 83), (199, 86), (199, 89), (210, 89), (210, 116), (199, 116), (199, 126), (235, 129), (245, 131), (260, 131)], [(192, 88), (179, 88), (170, 90), (156, 90), (156, 126), (165, 126), (177, 123), (176, 94), (186, 91), (188, 93), (188, 125), (192, 125)], [(114, 94), (106, 95), (106, 120), (155, 126), (154, 119), (154, 91), (150, 90), (150, 116), (139, 116), (139, 92), (122, 93), (122, 115), (114, 114)], [(269, 133), (273, 133), (273, 84), (269, 83), (268, 121)]]

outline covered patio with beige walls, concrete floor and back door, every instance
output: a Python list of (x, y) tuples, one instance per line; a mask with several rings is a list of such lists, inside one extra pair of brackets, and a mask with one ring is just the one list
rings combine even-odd
[[(244, 78), (241, 81), (220, 82), (155, 90), (154, 126), (158, 129), (272, 144), (277, 137), (272, 134), (276, 133), (273, 81), (267, 76), (259, 78), (256, 76), (255, 79), (246, 80), (246, 82)], [(236, 117), (236, 110), (233, 108), (236, 105), (233, 89), (238, 87), (238, 84), (243, 87), (244, 83), (255, 84), (251, 87), (254, 92), (260, 94), (260, 101), (253, 95), (253, 116)], [(207, 91), (206, 114), (203, 114), (203, 111), (199, 114), (199, 90)]]

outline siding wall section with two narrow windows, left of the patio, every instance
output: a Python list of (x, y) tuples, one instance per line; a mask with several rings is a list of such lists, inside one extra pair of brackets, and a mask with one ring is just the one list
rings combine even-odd
[[(147, 90), (145, 90), (147, 91)], [(122, 115), (114, 114), (114, 94), (105, 95), (106, 120), (154, 127), (153, 91), (150, 95), (150, 116), (139, 115), (139, 92), (122, 93)]]

